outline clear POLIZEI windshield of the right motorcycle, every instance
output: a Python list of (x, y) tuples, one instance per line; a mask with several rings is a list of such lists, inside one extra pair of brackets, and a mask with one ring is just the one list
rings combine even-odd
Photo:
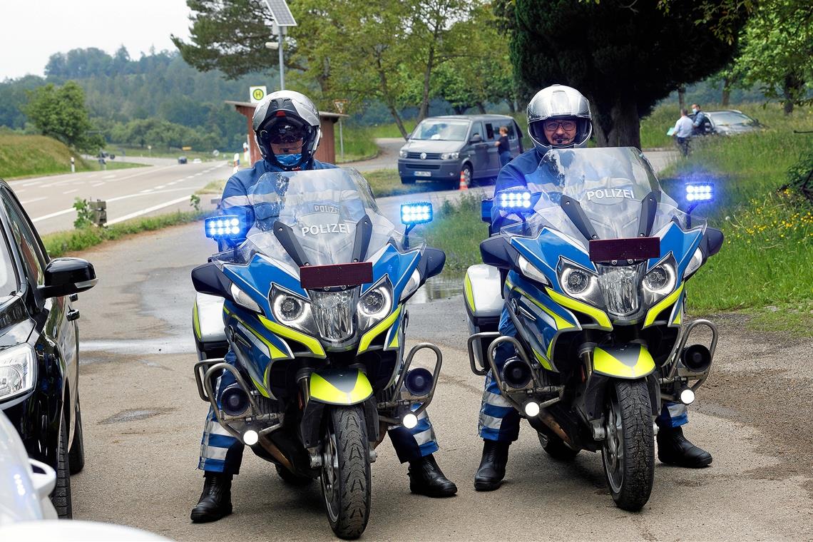
[[(550, 228), (585, 251), (591, 228), (598, 239), (637, 237), (641, 215), (650, 212), (644, 203), (650, 194), (657, 203), (650, 235), (657, 236), (670, 223), (684, 229), (688, 224), (675, 200), (661, 191), (649, 161), (634, 147), (550, 150), (526, 180), (528, 189), (541, 196), (533, 215), (502, 228), (503, 235), (536, 237), (542, 228)], [(572, 205), (567, 198), (579, 203), (583, 215), (565, 211)], [(705, 221), (692, 217), (691, 225), (704, 227)]]

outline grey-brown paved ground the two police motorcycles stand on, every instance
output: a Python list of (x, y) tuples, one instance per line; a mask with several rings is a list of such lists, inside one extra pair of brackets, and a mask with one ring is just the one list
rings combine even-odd
[[(83, 254), (95, 264), (100, 282), (80, 294), (77, 304), (87, 456), (85, 470), (72, 478), (74, 515), (176, 540), (330, 540), (318, 484), (290, 488), (270, 464), (250, 453), (234, 482), (234, 514), (211, 524), (189, 522), (202, 487), (195, 466), (207, 413), (192, 374), (189, 271), (212, 249), (200, 224), (189, 224)], [(385, 442), (372, 467), (366, 540), (813, 537), (810, 441), (800, 440), (809, 438), (810, 428), (794, 435), (779, 421), (787, 418), (789, 405), (798, 404), (802, 414), (792, 414), (799, 417), (794, 431), (809, 425), (811, 380), (774, 376), (780, 369), (804, 374), (805, 360), (813, 355), (809, 342), (783, 343), (782, 355), (776, 356), (771, 337), (752, 336), (741, 324), (724, 322), (718, 368), (698, 392), (699, 408), (690, 407), (687, 430), (711, 450), (714, 463), (705, 470), (658, 463), (649, 503), (628, 514), (613, 505), (598, 454), (582, 452), (572, 463), (554, 462), (527, 425), (511, 447), (505, 485), (497, 492), (475, 492), (482, 379), (471, 374), (464, 353), (463, 300), (411, 303), (410, 310), (409, 339), (437, 341), (444, 353), (429, 412), (441, 445), (438, 462), (459, 494), (441, 501), (411, 495), (406, 467)], [(771, 380), (776, 395), (766, 397), (750, 383), (739, 384), (743, 371)], [(721, 388), (727, 394), (715, 391)], [(771, 412), (774, 418), (766, 414)], [(789, 453), (805, 448), (806, 455)], [(789, 467), (794, 461), (803, 464)]]

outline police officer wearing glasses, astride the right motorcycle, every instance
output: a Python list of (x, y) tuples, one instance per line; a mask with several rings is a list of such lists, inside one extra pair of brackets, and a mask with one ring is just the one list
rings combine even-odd
[[(495, 193), (516, 186), (528, 186), (526, 176), (537, 171), (542, 156), (550, 149), (572, 149), (587, 145), (593, 133), (593, 117), (587, 98), (571, 87), (552, 85), (541, 89), (528, 103), (528, 134), (533, 149), (514, 158), (503, 167), (497, 178)], [(533, 187), (532, 187), (533, 188)], [(498, 232), (511, 215), (492, 209), (492, 231)], [(502, 335), (516, 336), (516, 327), (506, 309), (502, 310), (499, 331)], [(515, 354), (508, 343), (502, 343), (494, 355), (499, 369)], [(664, 402), (656, 422), (658, 457), (664, 463), (686, 467), (711, 464), (711, 454), (698, 448), (683, 436), (680, 429), (689, 420), (682, 403)], [(491, 372), (485, 377), (485, 392), (480, 405), (480, 437), (483, 439), (483, 457), (474, 476), (477, 491), (493, 491), (505, 477), (508, 447), (520, 435), (520, 414), (500, 394)]]

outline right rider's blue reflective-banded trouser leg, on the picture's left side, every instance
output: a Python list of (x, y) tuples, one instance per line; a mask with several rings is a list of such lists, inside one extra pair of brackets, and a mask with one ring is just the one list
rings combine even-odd
[[(500, 316), (500, 333), (507, 336), (516, 336), (516, 327), (503, 308)], [(502, 366), (508, 358), (515, 354), (514, 346), (502, 343), (494, 353), (494, 363), (502, 371)], [(520, 413), (511, 403), (502, 397), (497, 382), (493, 379), (491, 371), (485, 375), (485, 392), (480, 405), (480, 420), (478, 423), (480, 437), (484, 440), (498, 440), (499, 442), (513, 442), (520, 436)]]

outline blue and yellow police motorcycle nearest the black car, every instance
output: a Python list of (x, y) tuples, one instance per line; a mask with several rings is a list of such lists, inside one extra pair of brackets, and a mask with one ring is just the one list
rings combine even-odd
[[(345, 169), (266, 173), (249, 201), (254, 224), (219, 216), (205, 225), (215, 240), (246, 241), (192, 272), (198, 392), (283, 479), (320, 479), (330, 527), (356, 538), (370, 514), (376, 445), (389, 426), (415, 427), (441, 369), (437, 346), (406, 352), (404, 336), (406, 301), (446, 260), (409, 235), (432, 206), (403, 205), (402, 235), (367, 181)], [(237, 366), (222, 359), (224, 345)], [(422, 349), (433, 371), (411, 367)], [(236, 384), (218, 397), (224, 370)]]

